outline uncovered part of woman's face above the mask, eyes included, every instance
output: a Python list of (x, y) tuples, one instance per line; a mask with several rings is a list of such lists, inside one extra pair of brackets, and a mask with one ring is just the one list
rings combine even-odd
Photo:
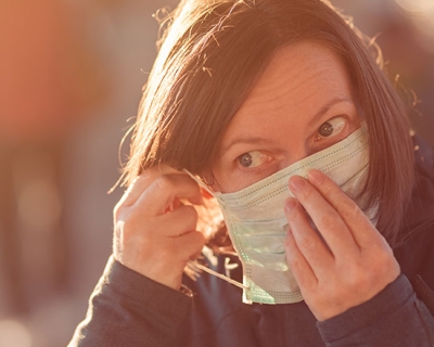
[(343, 140), (359, 125), (340, 55), (315, 42), (284, 47), (226, 129), (212, 188), (239, 191)]

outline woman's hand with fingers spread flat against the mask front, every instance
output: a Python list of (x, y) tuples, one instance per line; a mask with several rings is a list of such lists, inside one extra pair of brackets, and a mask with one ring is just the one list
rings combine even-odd
[(368, 301), (399, 275), (387, 242), (326, 175), (292, 177), (290, 189), (296, 198), (285, 205), (286, 259), (319, 321)]

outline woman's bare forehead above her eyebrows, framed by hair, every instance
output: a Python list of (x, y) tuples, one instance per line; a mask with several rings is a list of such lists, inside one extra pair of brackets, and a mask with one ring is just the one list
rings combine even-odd
[(343, 59), (317, 42), (278, 50), (224, 134), (267, 129), (272, 118), (306, 124), (331, 100), (350, 100), (352, 82)]

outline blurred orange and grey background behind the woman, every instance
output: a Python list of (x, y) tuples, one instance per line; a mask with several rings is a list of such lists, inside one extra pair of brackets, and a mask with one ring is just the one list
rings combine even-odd
[[(434, 0), (335, 0), (434, 144)], [(111, 254), (119, 142), (175, 0), (0, 0), (0, 347), (65, 346)], [(120, 154), (119, 154), (120, 153)]]

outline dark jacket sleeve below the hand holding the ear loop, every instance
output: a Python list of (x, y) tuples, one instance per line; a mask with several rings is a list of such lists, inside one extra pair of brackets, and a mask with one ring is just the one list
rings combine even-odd
[(68, 347), (177, 346), (192, 299), (110, 258)]

